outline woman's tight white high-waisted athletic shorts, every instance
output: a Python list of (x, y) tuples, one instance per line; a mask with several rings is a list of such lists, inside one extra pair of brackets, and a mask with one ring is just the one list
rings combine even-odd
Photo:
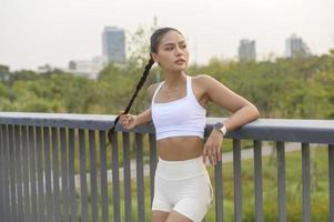
[(202, 157), (185, 161), (159, 159), (154, 180), (153, 211), (178, 211), (201, 222), (212, 205), (212, 186)]

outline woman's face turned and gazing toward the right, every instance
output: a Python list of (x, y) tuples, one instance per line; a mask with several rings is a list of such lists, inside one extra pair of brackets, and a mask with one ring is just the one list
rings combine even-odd
[(152, 57), (166, 71), (185, 70), (189, 51), (184, 37), (176, 31), (166, 32), (160, 40), (158, 52), (152, 53)]

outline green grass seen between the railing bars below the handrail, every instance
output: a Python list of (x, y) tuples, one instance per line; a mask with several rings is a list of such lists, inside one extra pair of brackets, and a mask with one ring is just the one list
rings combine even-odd
[[(224, 143), (225, 144), (225, 143)], [(242, 145), (250, 142), (242, 142)], [(312, 221), (328, 221), (328, 154), (327, 149), (318, 147), (311, 150), (311, 214)], [(285, 154), (286, 163), (286, 218), (287, 221), (302, 221), (302, 159), (301, 152)], [(243, 221), (255, 221), (254, 209), (254, 172), (253, 160), (242, 161), (242, 212)], [(277, 221), (277, 170), (275, 157), (262, 159), (263, 175), (263, 212), (264, 221)], [(213, 168), (208, 171), (213, 181)], [(121, 221), (124, 221), (124, 192), (123, 182), (120, 182)], [(89, 185), (90, 186), (90, 185)], [(214, 184), (213, 184), (214, 188)], [(214, 188), (215, 189), (215, 188)], [(100, 192), (100, 186), (99, 186)], [(108, 184), (109, 218), (113, 221), (112, 184)], [(80, 200), (78, 192), (78, 201)], [(90, 195), (90, 191), (89, 191)], [(150, 178), (144, 179), (145, 219), (150, 221)], [(138, 221), (136, 211), (136, 182), (131, 181), (132, 220)], [(99, 193), (99, 204), (102, 202)], [(80, 203), (78, 204), (80, 214)], [(233, 163), (223, 164), (223, 212), (224, 221), (234, 221), (234, 190)], [(91, 218), (91, 203), (89, 200), (89, 218)], [(99, 221), (101, 221), (101, 205), (99, 205)], [(215, 221), (215, 205), (206, 214), (206, 221)]]

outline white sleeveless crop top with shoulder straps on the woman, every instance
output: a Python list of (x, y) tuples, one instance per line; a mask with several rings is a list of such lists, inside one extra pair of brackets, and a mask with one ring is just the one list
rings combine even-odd
[(191, 77), (186, 75), (186, 95), (184, 98), (171, 102), (156, 103), (154, 99), (163, 83), (164, 81), (156, 88), (151, 103), (156, 140), (182, 135), (204, 138), (206, 110), (193, 94)]

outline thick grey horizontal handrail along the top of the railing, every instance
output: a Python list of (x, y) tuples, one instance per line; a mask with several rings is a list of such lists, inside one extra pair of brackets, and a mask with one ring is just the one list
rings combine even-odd
[[(0, 112), (0, 124), (107, 130), (113, 125), (115, 117), (107, 114)], [(206, 118), (205, 134), (211, 132), (212, 124), (224, 120), (226, 118)], [(117, 130), (128, 131), (121, 125), (118, 125)], [(155, 132), (152, 123), (139, 125), (130, 131)], [(229, 132), (226, 138), (334, 144), (334, 120), (257, 119)]]

